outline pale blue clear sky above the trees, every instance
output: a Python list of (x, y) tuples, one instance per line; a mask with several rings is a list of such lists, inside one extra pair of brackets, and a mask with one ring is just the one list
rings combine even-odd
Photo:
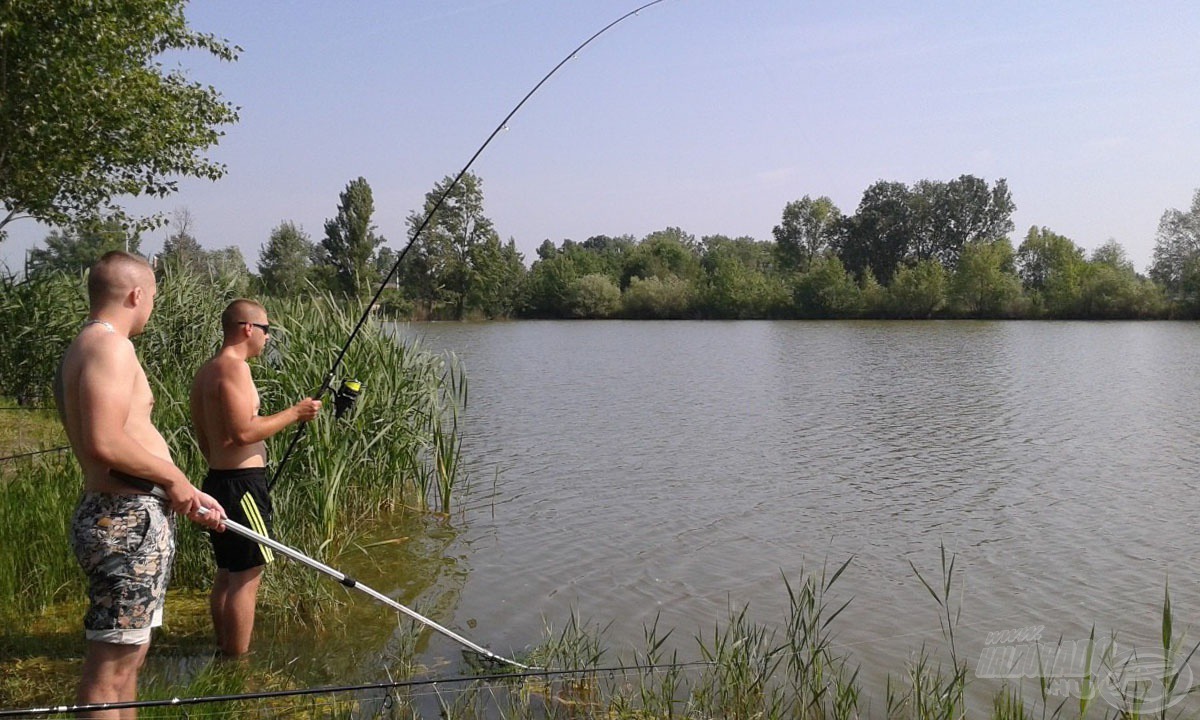
[[(253, 270), (283, 221), (313, 240), (366, 178), (386, 245), (542, 76), (644, 0), (196, 0), (233, 64), (172, 55), (240, 107), (139, 212), (186, 209)], [(563, 66), (475, 161), (485, 214), (532, 263), (546, 239), (679, 227), (770, 240), (784, 206), (851, 215), (887, 180), (1008, 182), (1014, 245), (1112, 239), (1144, 271), (1159, 218), (1200, 188), (1200, 2), (665, 0)], [(8, 226), (19, 269), (50, 228)], [(156, 252), (168, 230), (143, 240)]]

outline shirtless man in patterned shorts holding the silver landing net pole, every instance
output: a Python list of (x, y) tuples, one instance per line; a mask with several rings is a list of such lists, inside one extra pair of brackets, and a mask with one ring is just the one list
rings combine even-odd
[(130, 337), (145, 328), (156, 289), (142, 258), (120, 251), (102, 257), (88, 276), (88, 322), (54, 378), (59, 416), (84, 474), (71, 522), (71, 545), (91, 601), (84, 616), (82, 704), (137, 697), (138, 670), (150, 629), (162, 624), (175, 553), (169, 511), (215, 530), (223, 527), (220, 503), (188, 482), (150, 422), (154, 396)]

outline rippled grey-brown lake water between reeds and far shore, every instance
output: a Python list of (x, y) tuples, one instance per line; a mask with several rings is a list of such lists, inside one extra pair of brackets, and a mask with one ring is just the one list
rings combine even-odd
[[(888, 673), (941, 644), (940, 608), (910, 563), (940, 578), (942, 546), (972, 667), (990, 632), (1022, 628), (1073, 642), (1094, 625), (1121, 648), (1158, 648), (1168, 581), (1176, 630), (1200, 619), (1200, 325), (402, 334), (467, 368), (472, 486), (446, 551), (462, 584), (442, 619), (500, 654), (577, 611), (611, 622), (622, 655), (660, 617), (694, 656), (694, 636), (731, 606), (778, 625), (781, 576), (853, 557), (834, 586), (852, 599), (834, 630), (880, 703)], [(973, 680), (973, 692), (998, 683)]]

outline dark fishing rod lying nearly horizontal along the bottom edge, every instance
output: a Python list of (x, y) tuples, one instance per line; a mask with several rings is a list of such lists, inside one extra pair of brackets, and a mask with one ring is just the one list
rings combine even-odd
[(642, 672), (642, 671), (656, 671), (662, 668), (710, 666), (710, 665), (715, 664), (709, 660), (695, 660), (691, 662), (674, 662), (671, 665), (660, 665), (660, 664), (613, 665), (608, 667), (588, 667), (580, 670), (530, 670), (522, 672), (506, 672), (496, 674), (451, 676), (449, 678), (424, 678), (419, 680), (391, 680), (388, 683), (364, 683), (359, 685), (325, 685), (320, 688), (300, 688), (296, 690), (265, 690), (259, 692), (240, 692), (236, 695), (202, 695), (197, 697), (172, 697), (169, 700), (139, 700), (130, 702), (110, 702), (110, 703), (97, 703), (97, 704), (22, 708), (12, 710), (0, 710), (0, 718), (26, 718), (32, 715), (50, 715), (50, 714), (79, 714), (79, 713), (90, 713), (98, 710), (124, 710), (133, 708), (143, 709), (143, 708), (185, 707), (185, 706), (206, 704), (216, 702), (270, 700), (276, 697), (304, 697), (310, 695), (338, 695), (344, 692), (362, 692), (368, 690), (395, 690), (401, 688), (421, 688), (427, 685), (452, 684), (452, 683), (480, 683), (480, 682), (491, 683), (494, 680), (516, 680), (524, 678), (550, 678), (550, 677), (583, 676), (583, 674), (599, 674), (599, 673), (614, 674), (618, 672), (631, 672), (631, 671)]

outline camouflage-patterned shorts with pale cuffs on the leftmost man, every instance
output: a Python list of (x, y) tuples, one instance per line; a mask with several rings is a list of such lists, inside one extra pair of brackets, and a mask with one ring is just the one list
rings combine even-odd
[(148, 494), (86, 492), (71, 522), (71, 547), (88, 576), (88, 640), (150, 642), (175, 556), (174, 518), (166, 500)]

